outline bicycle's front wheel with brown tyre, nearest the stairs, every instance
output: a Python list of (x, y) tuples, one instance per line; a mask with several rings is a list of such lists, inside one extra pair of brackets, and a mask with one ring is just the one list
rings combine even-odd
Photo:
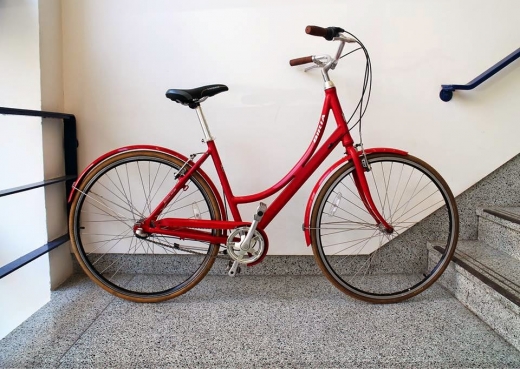
[[(408, 299), (432, 285), (457, 244), (459, 217), (451, 190), (431, 166), (411, 155), (367, 156), (365, 176), (388, 234), (366, 210), (352, 162), (320, 190), (310, 222), (312, 249), (325, 276), (342, 292), (373, 303)], [(441, 245), (437, 261), (427, 243)]]

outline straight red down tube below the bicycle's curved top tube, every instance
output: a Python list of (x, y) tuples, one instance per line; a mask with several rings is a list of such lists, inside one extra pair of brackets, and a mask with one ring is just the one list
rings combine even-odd
[(316, 154), (309, 160), (309, 162), (301, 168), (295, 175), (294, 179), (284, 188), (273, 203), (267, 208), (264, 217), (258, 225), (265, 229), (271, 223), (273, 218), (282, 210), (282, 208), (289, 202), (289, 200), (296, 194), (301, 186), (309, 179), (309, 177), (318, 169), (323, 161), (329, 156), (334, 148), (341, 141), (345, 135), (345, 128), (338, 126), (332, 135), (323, 143)]

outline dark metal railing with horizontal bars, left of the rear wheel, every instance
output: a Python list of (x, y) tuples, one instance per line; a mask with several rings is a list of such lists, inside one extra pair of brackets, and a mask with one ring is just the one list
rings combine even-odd
[[(54, 118), (63, 120), (63, 151), (65, 155), (65, 175), (62, 177), (43, 180), (41, 182), (31, 183), (24, 186), (10, 188), (0, 191), (0, 197), (13, 195), (15, 193), (29, 191), (34, 188), (49, 186), (54, 183), (65, 182), (66, 196), (68, 197), (72, 190), (72, 184), (78, 176), (77, 163), (77, 147), (78, 141), (76, 138), (76, 117), (72, 114), (54, 113), (39, 110), (26, 109), (12, 109), (0, 107), (0, 114), (2, 115), (22, 115), (29, 117)], [(15, 270), (23, 267), (31, 261), (45, 255), (49, 251), (64, 244), (69, 240), (69, 234), (64, 234), (55, 240), (52, 240), (45, 245), (37, 248), (34, 251), (0, 267), (0, 279), (11, 274)]]

